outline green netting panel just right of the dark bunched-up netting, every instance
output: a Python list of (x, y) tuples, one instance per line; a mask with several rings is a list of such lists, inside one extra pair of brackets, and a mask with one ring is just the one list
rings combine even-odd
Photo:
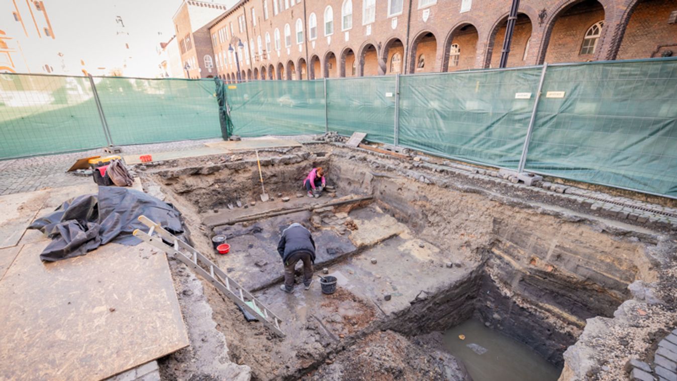
[(255, 81), (226, 93), (235, 135), (324, 133), (322, 81)]

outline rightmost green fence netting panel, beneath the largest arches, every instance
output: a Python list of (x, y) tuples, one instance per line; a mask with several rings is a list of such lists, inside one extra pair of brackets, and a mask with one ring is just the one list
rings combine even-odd
[(526, 168), (677, 196), (677, 60), (548, 66)]

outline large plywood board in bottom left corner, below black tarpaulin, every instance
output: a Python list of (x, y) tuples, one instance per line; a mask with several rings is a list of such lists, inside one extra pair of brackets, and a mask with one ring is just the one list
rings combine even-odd
[(48, 243), (0, 281), (0, 380), (100, 380), (188, 346), (165, 254), (107, 244), (45, 264)]

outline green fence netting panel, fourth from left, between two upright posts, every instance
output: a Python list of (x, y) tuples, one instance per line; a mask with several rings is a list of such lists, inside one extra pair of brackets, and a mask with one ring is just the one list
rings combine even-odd
[(395, 143), (395, 76), (327, 80), (327, 120), (331, 131)]

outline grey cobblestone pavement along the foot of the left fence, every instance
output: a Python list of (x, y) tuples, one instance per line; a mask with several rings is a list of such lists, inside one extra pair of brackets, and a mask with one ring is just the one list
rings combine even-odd
[[(122, 155), (152, 154), (153, 152), (180, 151), (201, 147), (210, 141), (221, 139), (183, 140), (170, 143), (155, 143), (123, 146)], [(103, 149), (34, 156), (13, 160), (0, 160), (0, 196), (21, 192), (31, 192), (45, 188), (79, 185), (93, 181), (91, 177), (81, 177), (66, 173), (66, 170), (79, 158), (87, 156), (107, 156)]]

